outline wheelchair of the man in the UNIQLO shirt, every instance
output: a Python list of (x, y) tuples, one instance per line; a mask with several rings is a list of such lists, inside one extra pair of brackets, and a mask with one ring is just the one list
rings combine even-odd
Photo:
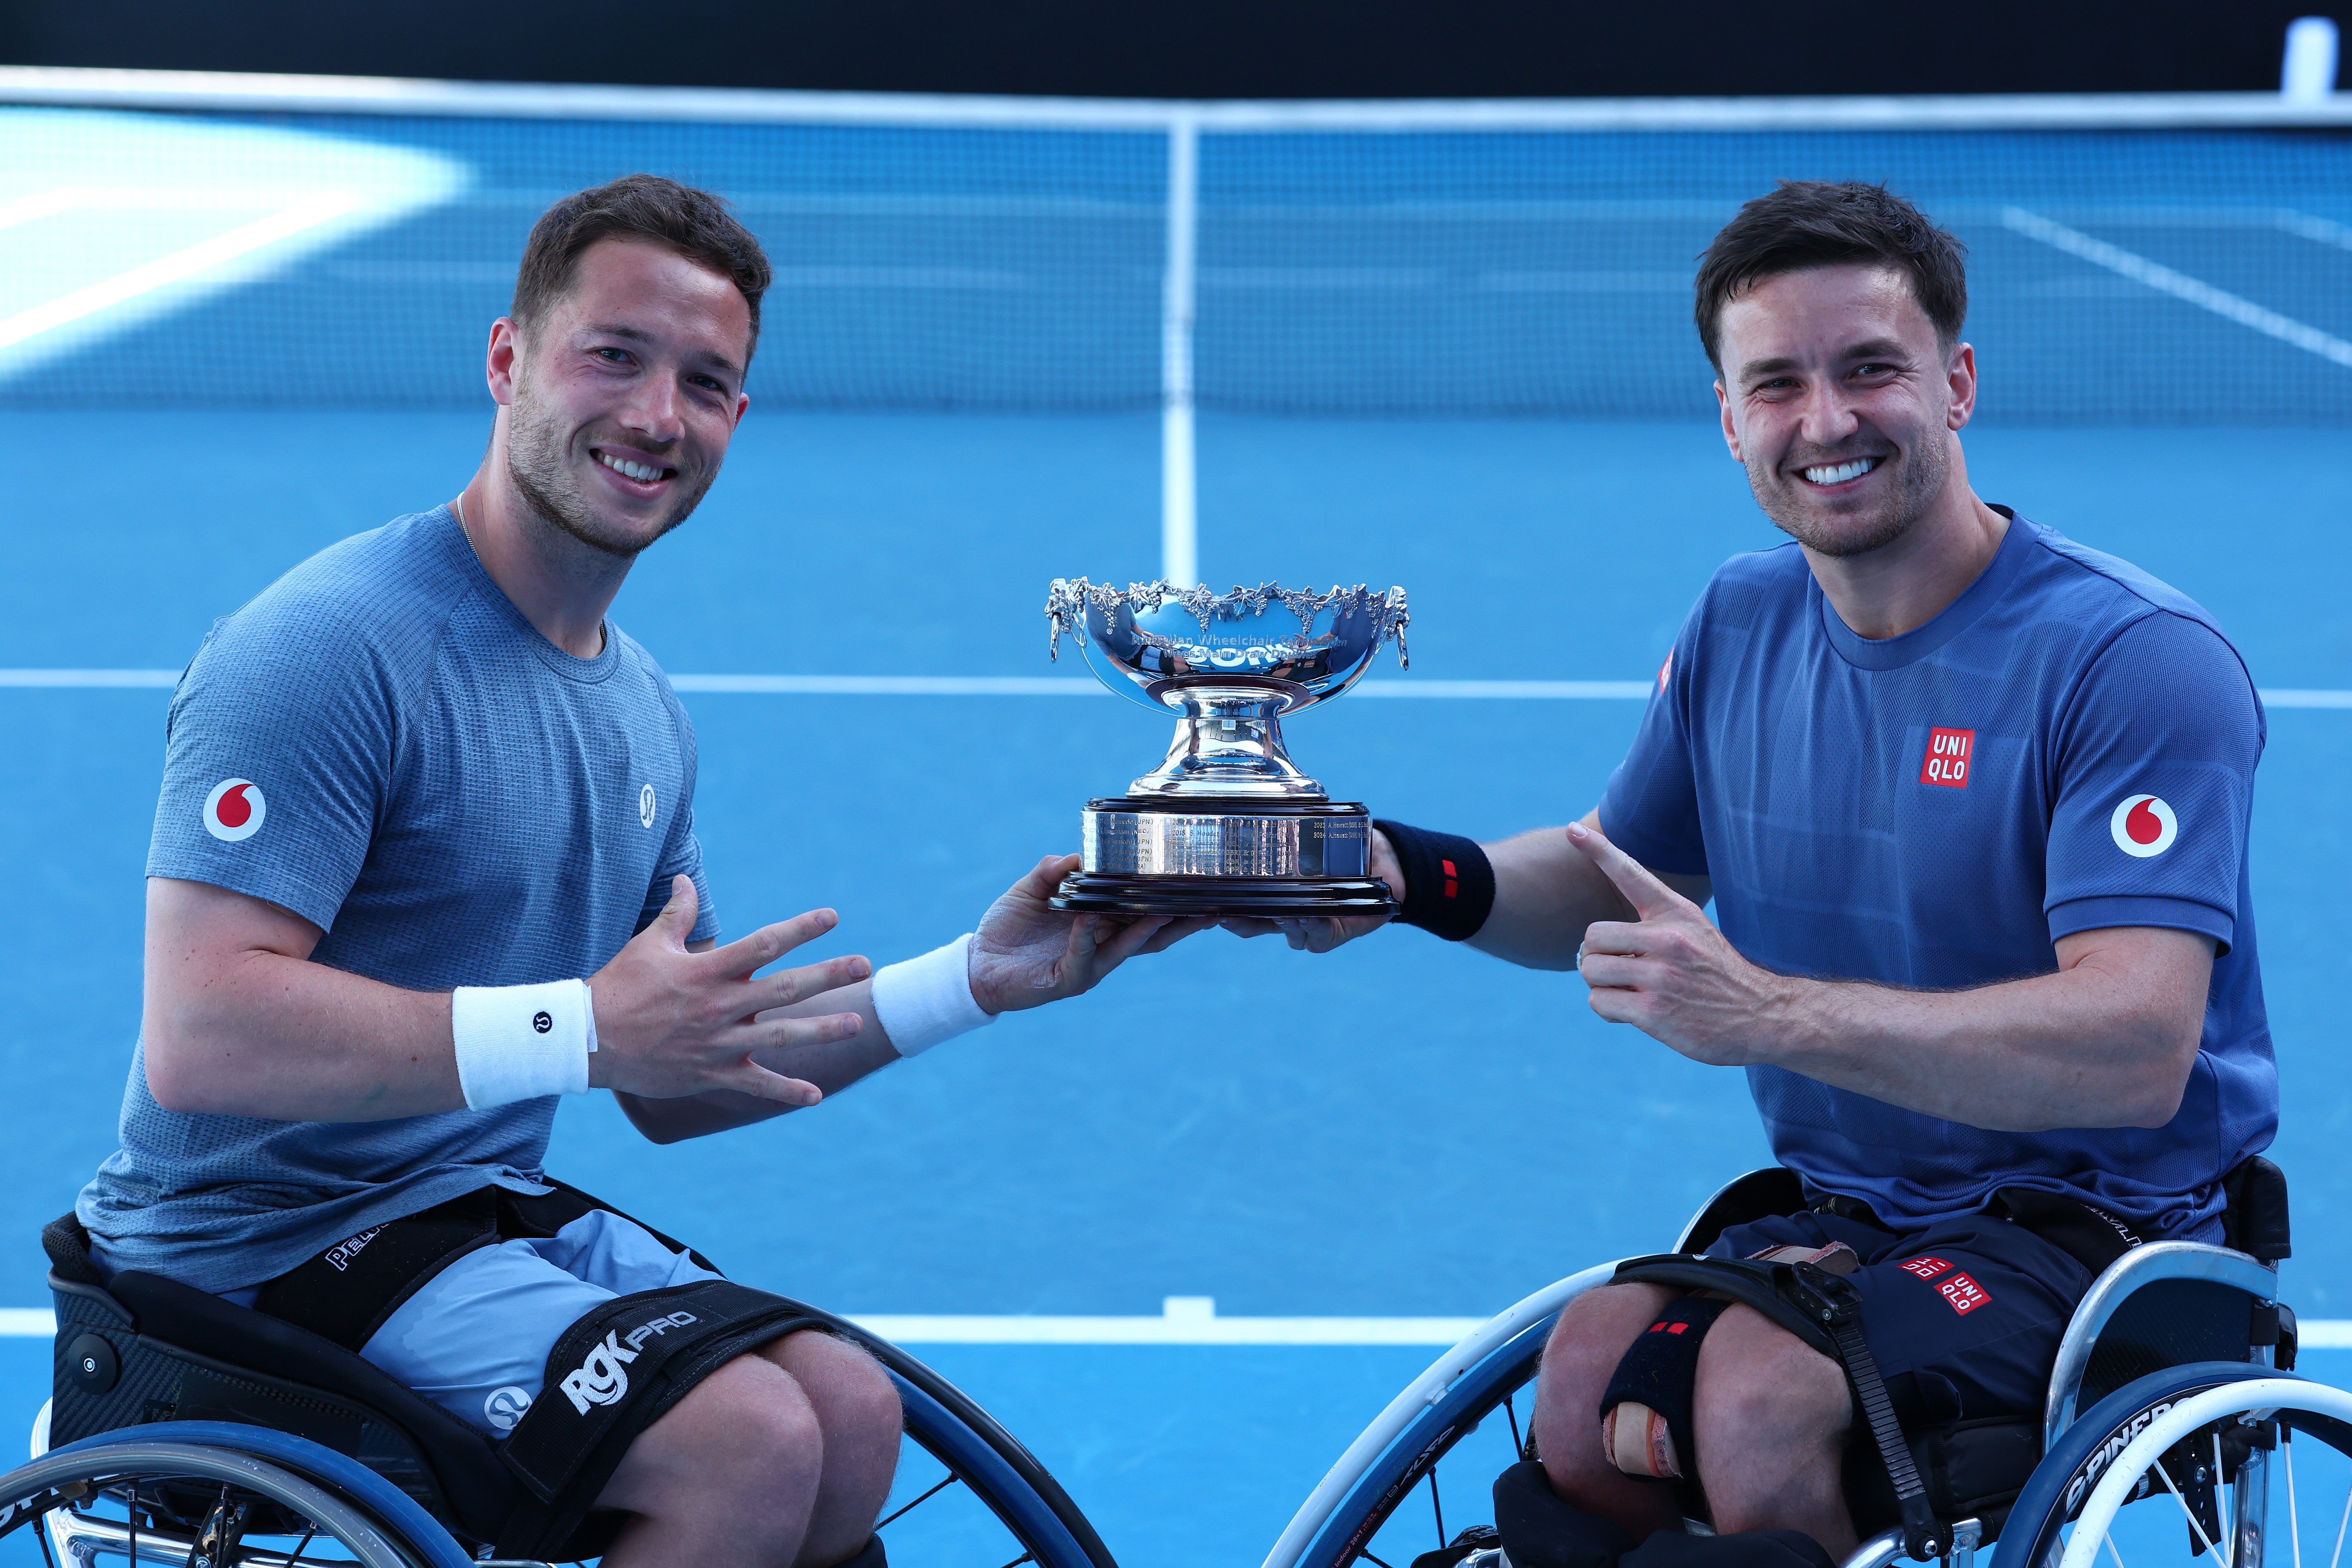
[[(2225, 1246), (2152, 1241), (2091, 1284), (2037, 1420), (1905, 1427), (1950, 1542), (1936, 1559), (1943, 1568), (1971, 1568), (1994, 1542), (2002, 1568), (2091, 1568), (2103, 1552), (2110, 1568), (2124, 1568), (2126, 1552), (2145, 1568), (2150, 1540), (2211, 1554), (2213, 1568), (2303, 1568), (2307, 1533), (2328, 1568), (2343, 1559), (2352, 1535), (2352, 1394), (2291, 1375), (2296, 1316), (2277, 1286), (2291, 1251), (2286, 1178), (2267, 1159), (2249, 1159), (2225, 1187)], [(1750, 1171), (1700, 1206), (1672, 1251), (1700, 1253), (1731, 1225), (1802, 1208), (1795, 1173)], [(1402, 1568), (1414, 1559), (1501, 1568), (1491, 1526), (1446, 1533), (1439, 1467), (1458, 1455), (1465, 1474), (1451, 1493), (1482, 1500), (1503, 1465), (1538, 1458), (1517, 1399), (1531, 1394), (1562, 1307), (1616, 1269), (1604, 1262), (1555, 1281), (1439, 1356), (1350, 1443), (1265, 1568)], [(1491, 1436), (1463, 1448), (1496, 1415), (1508, 1448)], [(2305, 1488), (2331, 1500), (2319, 1514), (2296, 1497), (2298, 1448)], [(1870, 1432), (1856, 1422), (1846, 1490), (1865, 1537), (1842, 1568), (1889, 1568), (1907, 1556), (1884, 1507), (1891, 1493), (1872, 1497), (1856, 1483), (1865, 1472), (1886, 1486)], [(1416, 1502), (1421, 1493), (1425, 1502)], [(2284, 1521), (2274, 1493), (2284, 1493)], [(2173, 1507), (2159, 1512), (2185, 1516), (2185, 1528), (2152, 1528), (2147, 1509), (2117, 1519), (2124, 1505), (2152, 1497), (2169, 1497)], [(1686, 1528), (1705, 1533), (1700, 1521)]]

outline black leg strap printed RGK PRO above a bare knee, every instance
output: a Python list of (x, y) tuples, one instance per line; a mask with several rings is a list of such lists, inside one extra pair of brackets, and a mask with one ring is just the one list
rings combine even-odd
[(621, 1295), (581, 1316), (548, 1352), (548, 1380), (501, 1446), (529, 1497), (499, 1556), (543, 1556), (588, 1514), (640, 1432), (748, 1349), (816, 1328), (800, 1302), (729, 1279)]

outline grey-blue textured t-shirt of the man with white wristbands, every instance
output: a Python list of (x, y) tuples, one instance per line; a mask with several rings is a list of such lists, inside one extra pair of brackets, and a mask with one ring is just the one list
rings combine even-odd
[[(447, 508), (346, 538), (214, 623), (172, 696), (151, 877), (266, 898), (313, 964), (386, 985), (590, 976), (684, 872), (694, 726), (604, 623), (574, 658), (482, 571)], [(165, 1110), (146, 1051), (122, 1150), (78, 1213), (118, 1269), (233, 1291), (477, 1187), (543, 1192), (555, 1098), (393, 1121)]]

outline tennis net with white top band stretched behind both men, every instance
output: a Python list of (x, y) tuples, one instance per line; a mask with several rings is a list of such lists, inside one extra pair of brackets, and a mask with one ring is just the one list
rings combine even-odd
[(1966, 240), (1983, 418), (2352, 423), (2352, 110), (1089, 103), (0, 71), (0, 404), (473, 407), (557, 195), (724, 193), (809, 409), (1658, 418), (1776, 179)]

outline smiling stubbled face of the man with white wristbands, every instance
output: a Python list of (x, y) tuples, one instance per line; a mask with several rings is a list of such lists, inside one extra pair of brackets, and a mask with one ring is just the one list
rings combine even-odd
[(572, 538), (637, 555), (717, 480), (748, 360), (750, 306), (727, 277), (640, 240), (590, 244), (543, 320), (492, 334), (515, 489)]

